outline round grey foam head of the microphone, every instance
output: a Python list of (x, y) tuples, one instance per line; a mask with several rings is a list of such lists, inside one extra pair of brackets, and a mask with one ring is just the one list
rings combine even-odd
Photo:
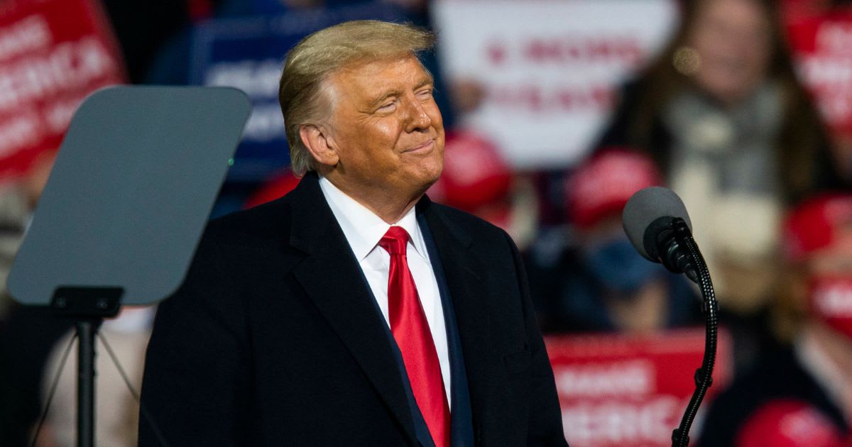
[(662, 186), (651, 186), (633, 194), (621, 213), (630, 244), (648, 261), (659, 262), (657, 236), (671, 229), (671, 222), (680, 217), (692, 231), (687, 209), (675, 192)]

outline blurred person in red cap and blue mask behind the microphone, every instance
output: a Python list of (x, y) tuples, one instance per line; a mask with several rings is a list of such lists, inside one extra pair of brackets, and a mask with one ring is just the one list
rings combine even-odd
[(621, 227), (633, 193), (661, 181), (648, 156), (623, 148), (598, 152), (567, 179), (575, 244), (554, 266), (530, 256), (544, 330), (648, 333), (700, 324), (699, 300), (686, 278), (639, 255)]

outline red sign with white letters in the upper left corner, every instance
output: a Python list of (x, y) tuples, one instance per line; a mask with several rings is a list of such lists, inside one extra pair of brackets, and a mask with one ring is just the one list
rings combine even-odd
[(95, 89), (124, 82), (117, 46), (89, 0), (6, 0), (0, 6), (0, 182), (58, 148)]

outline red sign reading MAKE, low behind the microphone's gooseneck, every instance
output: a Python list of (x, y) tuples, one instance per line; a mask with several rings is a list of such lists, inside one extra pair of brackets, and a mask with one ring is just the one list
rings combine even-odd
[[(671, 431), (695, 390), (703, 329), (650, 335), (546, 337), (568, 444), (580, 447), (669, 446)], [(713, 386), (728, 384), (730, 340), (720, 331)]]

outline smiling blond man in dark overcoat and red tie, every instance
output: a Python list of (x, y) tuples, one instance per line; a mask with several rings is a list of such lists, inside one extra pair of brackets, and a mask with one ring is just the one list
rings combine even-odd
[[(515, 244), (429, 202), (444, 129), (411, 26), (287, 56), (296, 190), (210, 223), (158, 310), (140, 445), (565, 445)], [(307, 172), (307, 174), (305, 174)]]

